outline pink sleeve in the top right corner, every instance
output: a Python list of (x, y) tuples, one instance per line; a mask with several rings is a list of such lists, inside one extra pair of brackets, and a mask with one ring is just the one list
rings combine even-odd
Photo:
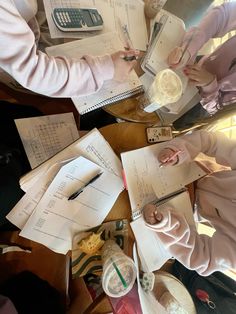
[(194, 40), (190, 42), (188, 51), (192, 58), (210, 39), (223, 37), (226, 33), (236, 29), (236, 3), (228, 2), (213, 7), (208, 11), (197, 27), (191, 28), (185, 35), (183, 44), (194, 32)]

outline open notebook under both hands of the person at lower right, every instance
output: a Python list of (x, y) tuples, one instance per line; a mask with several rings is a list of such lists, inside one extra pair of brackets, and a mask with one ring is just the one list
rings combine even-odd
[(131, 227), (145, 271), (159, 269), (171, 255), (157, 234), (146, 227), (142, 208), (148, 203), (168, 204), (194, 225), (192, 205), (185, 186), (205, 175), (195, 162), (160, 168), (157, 155), (164, 146), (166, 143), (154, 144), (121, 154), (132, 210)]

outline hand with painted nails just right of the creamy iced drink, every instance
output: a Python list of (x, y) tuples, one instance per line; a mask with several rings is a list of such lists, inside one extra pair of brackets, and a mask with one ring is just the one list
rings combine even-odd
[(215, 79), (215, 75), (208, 72), (198, 64), (187, 65), (184, 74), (194, 86), (203, 87), (210, 84)]

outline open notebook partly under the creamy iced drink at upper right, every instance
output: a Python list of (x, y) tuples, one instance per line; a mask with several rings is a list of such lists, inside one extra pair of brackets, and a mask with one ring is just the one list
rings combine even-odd
[[(185, 25), (177, 16), (165, 10), (161, 10), (153, 21), (151, 29), (149, 47), (141, 64), (142, 69), (147, 74), (144, 79), (147, 80), (146, 84), (148, 86), (152, 84), (154, 75), (169, 68), (167, 64), (168, 55), (176, 46), (181, 45), (185, 34)], [(157, 114), (159, 115), (160, 113), (159, 117), (164, 124), (172, 122), (165, 119), (165, 113), (174, 115), (179, 113), (183, 114), (184, 112), (182, 111), (184, 111), (185, 107), (189, 106), (192, 99), (194, 99), (194, 104), (197, 104), (200, 99), (198, 89), (188, 84), (188, 79), (183, 74), (182, 70), (175, 70), (175, 72), (181, 78), (183, 95), (177, 102), (168, 104), (158, 110)], [(175, 118), (173, 120), (175, 120)]]

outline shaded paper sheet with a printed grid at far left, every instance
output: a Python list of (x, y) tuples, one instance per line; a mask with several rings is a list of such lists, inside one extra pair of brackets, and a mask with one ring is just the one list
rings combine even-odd
[(16, 119), (15, 124), (32, 169), (79, 138), (71, 112)]

